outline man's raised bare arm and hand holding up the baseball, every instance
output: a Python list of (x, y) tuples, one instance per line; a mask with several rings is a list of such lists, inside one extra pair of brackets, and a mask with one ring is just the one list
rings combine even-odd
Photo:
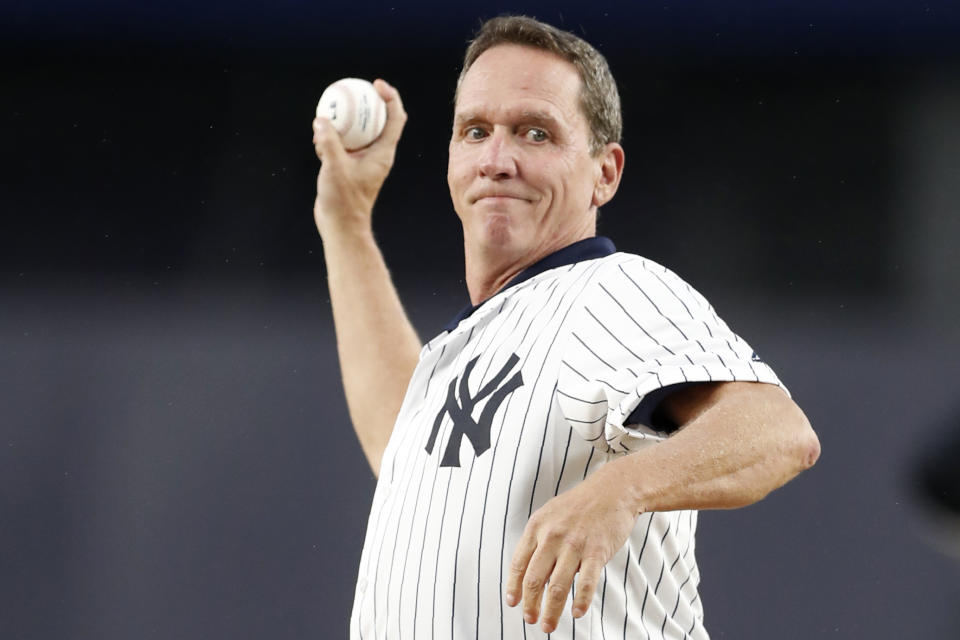
[(329, 120), (313, 121), (313, 146), (322, 163), (313, 217), (323, 239), (347, 407), (370, 467), (378, 473), (417, 366), (420, 339), (370, 221), (407, 114), (396, 89), (383, 80), (373, 86), (387, 103), (387, 122), (370, 146), (346, 151)]

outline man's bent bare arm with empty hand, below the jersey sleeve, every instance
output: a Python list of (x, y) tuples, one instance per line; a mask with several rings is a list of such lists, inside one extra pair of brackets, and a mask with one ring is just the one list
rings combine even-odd
[(510, 566), (506, 601), (556, 629), (577, 577), (573, 615), (586, 613), (603, 567), (640, 514), (732, 509), (764, 498), (820, 455), (803, 411), (779, 387), (705, 383), (660, 405), (680, 426), (670, 438), (598, 469), (531, 516)]

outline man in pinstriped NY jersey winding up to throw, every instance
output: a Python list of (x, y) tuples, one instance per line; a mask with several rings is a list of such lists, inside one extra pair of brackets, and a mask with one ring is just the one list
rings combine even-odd
[(606, 61), (528, 18), (481, 28), (447, 173), (474, 306), (423, 347), (371, 231), (406, 119), (376, 86), (369, 148), (314, 121), (344, 388), (379, 476), (351, 637), (706, 638), (696, 510), (763, 498), (819, 443), (699, 294), (594, 237), (624, 166)]

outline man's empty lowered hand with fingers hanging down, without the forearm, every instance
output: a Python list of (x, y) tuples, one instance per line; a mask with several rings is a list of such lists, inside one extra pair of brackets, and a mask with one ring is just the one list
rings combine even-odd
[(506, 602), (523, 603), (523, 618), (540, 623), (544, 633), (557, 621), (576, 582), (573, 616), (582, 617), (610, 558), (624, 545), (637, 512), (621, 486), (611, 483), (608, 468), (537, 509), (527, 522), (510, 563)]

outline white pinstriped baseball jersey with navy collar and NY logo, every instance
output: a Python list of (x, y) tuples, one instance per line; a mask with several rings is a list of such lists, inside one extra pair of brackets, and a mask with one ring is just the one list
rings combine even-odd
[[(689, 285), (605, 238), (461, 314), (421, 351), (385, 451), (351, 638), (544, 637), (503, 599), (530, 514), (668, 437), (666, 390), (720, 380), (779, 384)], [(707, 638), (696, 524), (639, 517), (587, 614), (568, 598), (551, 638)]]

